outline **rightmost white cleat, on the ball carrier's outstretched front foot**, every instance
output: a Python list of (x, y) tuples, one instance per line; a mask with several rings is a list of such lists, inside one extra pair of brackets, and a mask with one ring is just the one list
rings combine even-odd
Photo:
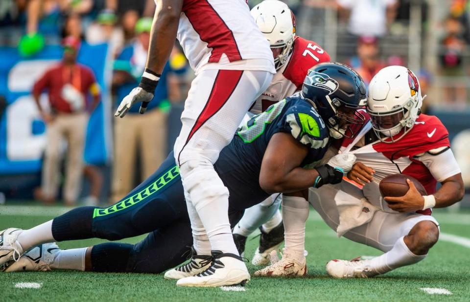
[(367, 260), (334, 259), (327, 263), (327, 273), (334, 278), (370, 278), (377, 275), (371, 270)]

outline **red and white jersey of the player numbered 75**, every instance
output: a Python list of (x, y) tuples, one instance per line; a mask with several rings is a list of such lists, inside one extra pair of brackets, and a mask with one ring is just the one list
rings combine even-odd
[(295, 37), (286, 64), (274, 75), (269, 87), (256, 100), (250, 112), (258, 114), (302, 88), (308, 69), (329, 62), (329, 54), (317, 43)]

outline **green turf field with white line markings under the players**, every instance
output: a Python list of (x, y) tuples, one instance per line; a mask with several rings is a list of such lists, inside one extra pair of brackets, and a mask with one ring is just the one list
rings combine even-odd
[[(0, 206), (0, 230), (28, 228), (64, 211), (63, 208)], [(374, 279), (333, 280), (325, 264), (334, 258), (352, 259), (380, 252), (335, 234), (311, 212), (307, 223), (308, 276), (303, 279), (252, 278), (243, 292), (220, 288), (177, 288), (163, 275), (95, 274), (83, 272), (26, 272), (0, 274), (0, 301), (470, 301), (470, 213), (436, 213), (443, 236), (422, 262)], [(136, 242), (139, 238), (129, 239)], [(249, 240), (252, 256), (255, 240)], [(62, 248), (100, 242), (60, 243)], [(256, 268), (248, 266), (250, 272)], [(19, 282), (37, 282), (41, 288), (15, 288)], [(421, 288), (447, 289), (451, 294), (428, 294)]]

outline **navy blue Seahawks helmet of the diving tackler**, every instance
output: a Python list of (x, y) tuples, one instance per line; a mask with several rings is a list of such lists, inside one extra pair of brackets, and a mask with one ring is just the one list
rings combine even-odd
[(365, 121), (357, 109), (366, 106), (366, 86), (357, 72), (344, 64), (330, 62), (310, 68), (302, 96), (313, 102), (333, 138), (353, 137), (357, 131), (342, 129), (344, 125)]

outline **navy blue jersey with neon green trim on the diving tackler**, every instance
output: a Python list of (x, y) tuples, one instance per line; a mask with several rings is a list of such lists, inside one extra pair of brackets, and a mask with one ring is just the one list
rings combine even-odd
[(230, 198), (237, 200), (231, 203), (231, 208), (245, 208), (246, 205), (239, 200), (249, 202), (250, 199), (268, 196), (259, 187), (259, 171), (268, 143), (278, 132), (292, 134), (309, 148), (302, 162), (306, 168), (314, 167), (329, 146), (329, 131), (325, 123), (311, 103), (301, 97), (284, 99), (255, 115), (237, 129), (234, 139), (220, 152), (214, 165), (230, 191)]

